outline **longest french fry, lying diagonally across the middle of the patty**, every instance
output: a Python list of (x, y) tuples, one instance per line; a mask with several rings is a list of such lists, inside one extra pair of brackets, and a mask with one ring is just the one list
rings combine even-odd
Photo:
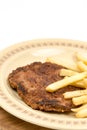
[(73, 76), (70, 76), (70, 77), (67, 77), (67, 78), (64, 78), (60, 81), (57, 81), (57, 82), (54, 82), (50, 85), (48, 85), (46, 87), (46, 91), (48, 92), (54, 92), (60, 88), (63, 88), (67, 85), (70, 85), (76, 81), (79, 81), (79, 80), (82, 80), (84, 79), (85, 77), (87, 77), (87, 72), (82, 72), (82, 73), (79, 73), (79, 74), (76, 74), (76, 75), (73, 75)]

